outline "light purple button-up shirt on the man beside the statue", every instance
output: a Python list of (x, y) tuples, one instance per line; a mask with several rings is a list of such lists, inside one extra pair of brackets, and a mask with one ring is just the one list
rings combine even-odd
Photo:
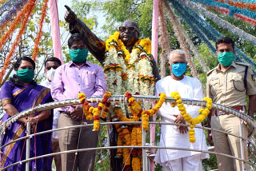
[[(86, 62), (77, 66), (70, 62), (59, 66), (51, 82), (51, 95), (54, 101), (78, 98), (78, 93), (86, 97), (102, 96), (106, 92), (106, 79), (103, 70), (97, 64)], [(71, 106), (59, 108), (71, 112)]]

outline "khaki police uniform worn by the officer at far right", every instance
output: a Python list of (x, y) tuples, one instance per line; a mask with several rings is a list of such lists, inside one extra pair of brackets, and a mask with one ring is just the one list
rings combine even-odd
[[(250, 66), (247, 71), (247, 87), (245, 88), (244, 77), (246, 64), (244, 63), (232, 63), (230, 67), (223, 72), (218, 65), (213, 70), (207, 73), (206, 93), (208, 97), (213, 99), (213, 102), (226, 105), (228, 107), (234, 106), (246, 106), (246, 95), (256, 94), (256, 84), (254, 79), (254, 73)], [(245, 109), (244, 109), (245, 110)], [(244, 111), (246, 112), (246, 111)], [(241, 121), (234, 115), (221, 115), (211, 117), (211, 128), (220, 129), (229, 133), (239, 134), (239, 125)], [(240, 153), (240, 139), (225, 133), (218, 133), (213, 131), (214, 147), (218, 153), (226, 153), (234, 155), (235, 157), (244, 157), (248, 159), (247, 145), (244, 143), (244, 152), (241, 156)], [(243, 136), (247, 137), (248, 129), (243, 124)], [(241, 170), (242, 162), (238, 160), (233, 161), (228, 157), (222, 157), (217, 155), (218, 169), (219, 171), (226, 170)], [(246, 170), (249, 170), (246, 165)]]

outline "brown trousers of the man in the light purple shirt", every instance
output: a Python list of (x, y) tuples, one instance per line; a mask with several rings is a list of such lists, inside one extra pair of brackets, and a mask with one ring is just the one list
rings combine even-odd
[[(83, 121), (86, 121), (84, 119)], [(88, 124), (93, 121), (86, 121)], [(81, 121), (74, 121), (69, 114), (61, 113), (58, 128), (80, 125)], [(71, 149), (86, 149), (97, 147), (98, 132), (92, 131), (93, 126), (58, 131), (58, 142), (62, 151)], [(80, 137), (79, 137), (80, 134)], [(79, 141), (78, 141), (79, 139)], [(95, 151), (62, 154), (62, 171), (94, 170)], [(74, 167), (74, 169), (73, 169)]]

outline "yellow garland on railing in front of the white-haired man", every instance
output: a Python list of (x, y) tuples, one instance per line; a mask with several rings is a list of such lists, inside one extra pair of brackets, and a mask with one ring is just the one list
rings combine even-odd
[[(194, 137), (194, 125), (201, 123), (210, 113), (210, 109), (213, 104), (212, 99), (208, 97), (204, 97), (203, 100), (206, 101), (206, 109), (199, 109), (199, 113), (200, 113), (199, 116), (192, 118), (190, 117), (189, 113), (186, 113), (186, 107), (182, 103), (182, 99), (178, 92), (170, 93), (170, 97), (173, 97), (175, 99), (178, 106), (178, 110), (181, 112), (182, 117), (184, 117), (184, 120), (190, 123), (190, 130), (189, 130), (190, 142), (194, 143), (196, 141)], [(176, 103), (172, 103), (171, 107), (175, 107)]]

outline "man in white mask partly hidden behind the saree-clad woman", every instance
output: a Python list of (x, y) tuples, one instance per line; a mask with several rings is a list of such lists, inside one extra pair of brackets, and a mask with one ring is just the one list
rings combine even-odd
[[(47, 58), (45, 62), (45, 74), (46, 74), (46, 80), (41, 83), (41, 85), (46, 86), (50, 88), (50, 82), (54, 79), (55, 70), (58, 68), (58, 66), (61, 66), (62, 62), (55, 57)], [(53, 129), (58, 129), (58, 117), (59, 117), (59, 111), (57, 109), (54, 109), (54, 121), (53, 121)], [(59, 145), (58, 145), (58, 132), (54, 131), (52, 133), (52, 139), (51, 139), (51, 153), (58, 153), (60, 152)], [(56, 170), (61, 171), (62, 170), (62, 161), (61, 161), (61, 155), (56, 155), (52, 157), (54, 158), (54, 162), (56, 165)]]

